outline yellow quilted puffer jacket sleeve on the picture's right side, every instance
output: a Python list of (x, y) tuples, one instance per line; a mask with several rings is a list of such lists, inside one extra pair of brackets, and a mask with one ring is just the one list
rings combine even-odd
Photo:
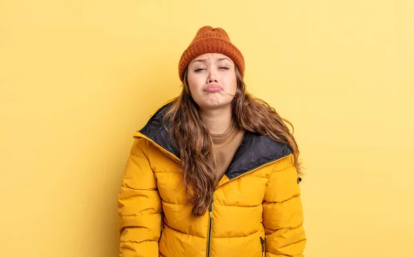
[(263, 203), (266, 257), (303, 257), (306, 236), (293, 155), (277, 161)]

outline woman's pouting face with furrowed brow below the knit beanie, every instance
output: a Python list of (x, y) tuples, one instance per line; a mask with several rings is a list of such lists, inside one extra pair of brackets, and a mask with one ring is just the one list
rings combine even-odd
[(236, 94), (235, 63), (224, 54), (202, 54), (188, 64), (187, 81), (201, 109), (226, 107)]

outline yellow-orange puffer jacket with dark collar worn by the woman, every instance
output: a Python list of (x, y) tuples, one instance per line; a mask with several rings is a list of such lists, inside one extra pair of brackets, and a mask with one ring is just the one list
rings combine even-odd
[(246, 132), (201, 217), (191, 215), (179, 152), (162, 127), (169, 103), (135, 134), (118, 198), (121, 257), (303, 256), (292, 150)]

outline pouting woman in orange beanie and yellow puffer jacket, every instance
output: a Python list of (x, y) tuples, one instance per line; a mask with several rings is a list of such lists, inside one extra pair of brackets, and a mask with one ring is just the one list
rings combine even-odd
[(299, 150), (243, 75), (228, 34), (200, 28), (179, 61), (181, 95), (135, 134), (119, 256), (302, 256)]

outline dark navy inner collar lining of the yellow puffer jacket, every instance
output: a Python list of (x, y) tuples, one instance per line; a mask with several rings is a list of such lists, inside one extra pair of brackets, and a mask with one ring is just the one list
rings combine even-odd
[[(170, 105), (172, 102), (160, 107), (139, 133), (179, 159), (179, 151), (163, 125), (164, 115)], [(225, 174), (229, 179), (233, 179), (292, 153), (288, 145), (273, 141), (270, 136), (247, 131)]]

